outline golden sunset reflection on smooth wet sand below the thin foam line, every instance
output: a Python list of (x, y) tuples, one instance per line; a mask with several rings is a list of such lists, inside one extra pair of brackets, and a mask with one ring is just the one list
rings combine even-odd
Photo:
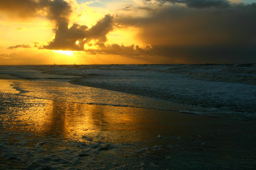
[(37, 135), (82, 139), (100, 134), (108, 140), (137, 141), (149, 135), (145, 128), (151, 128), (138, 108), (29, 100), (33, 105), (21, 108), (18, 122), (24, 131)]

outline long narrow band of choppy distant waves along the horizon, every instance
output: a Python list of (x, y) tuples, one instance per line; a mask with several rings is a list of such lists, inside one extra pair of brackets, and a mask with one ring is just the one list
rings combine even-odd
[[(60, 68), (65, 68), (60, 69)], [(138, 65), (63, 65), (57, 69), (42, 70), (44, 74), (96, 77), (106, 74), (87, 73), (91, 70), (153, 71), (183, 74), (191, 79), (256, 85), (256, 64), (138, 64)]]

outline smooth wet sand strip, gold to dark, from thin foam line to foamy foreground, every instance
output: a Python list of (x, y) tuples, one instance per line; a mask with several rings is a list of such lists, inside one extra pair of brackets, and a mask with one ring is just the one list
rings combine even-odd
[(254, 122), (156, 109), (12, 97), (16, 98), (6, 102), (6, 110), (2, 111), (1, 117), (6, 115), (6, 120), (1, 121), (0, 126), (5, 128), (2, 131), (23, 131), (46, 141), (51, 138), (52, 141), (84, 142), (90, 138), (104, 143), (122, 143), (122, 146), (125, 143), (136, 146), (141, 142), (141, 148), (131, 147), (125, 157), (134, 157), (132, 152), (143, 153), (147, 158), (158, 157), (162, 164), (174, 167), (175, 163), (180, 166), (191, 160), (190, 163), (233, 161), (242, 164), (256, 158)]

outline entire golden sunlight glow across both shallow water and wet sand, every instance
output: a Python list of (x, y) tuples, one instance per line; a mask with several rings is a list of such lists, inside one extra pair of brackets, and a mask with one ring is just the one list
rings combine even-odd
[[(37, 83), (28, 80), (2, 81), (1, 92), (11, 91), (12, 94), (17, 94), (14, 95), (17, 99), (12, 101), (14, 104), (6, 105), (4, 114), (6, 116), (2, 117), (6, 123), (12, 122), (11, 126), (4, 123), (6, 130), (26, 131), (46, 137), (77, 138), (77, 140), (83, 138), (90, 140), (90, 137), (101, 136), (102, 141), (106, 138), (127, 142), (152, 137), (149, 131), (144, 131), (145, 128), (147, 130), (155, 128), (147, 124), (157, 120), (156, 114), (149, 116), (151, 109), (111, 106), (113, 100), (119, 105), (127, 102), (131, 102), (130, 105), (132, 102), (142, 103), (145, 99), (140, 99), (139, 96), (120, 93), (110, 98), (109, 96), (114, 92), (109, 90), (68, 86), (67, 83), (63, 83), (65, 87), (59, 87), (48, 81), (40, 81), (41, 85)], [(112, 132), (115, 132), (115, 135)], [(155, 133), (153, 134), (156, 137)], [(126, 137), (122, 137), (123, 135)]]

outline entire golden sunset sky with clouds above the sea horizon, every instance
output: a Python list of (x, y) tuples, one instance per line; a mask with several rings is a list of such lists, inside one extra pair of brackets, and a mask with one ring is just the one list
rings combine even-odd
[(256, 62), (256, 1), (0, 0), (0, 65)]

